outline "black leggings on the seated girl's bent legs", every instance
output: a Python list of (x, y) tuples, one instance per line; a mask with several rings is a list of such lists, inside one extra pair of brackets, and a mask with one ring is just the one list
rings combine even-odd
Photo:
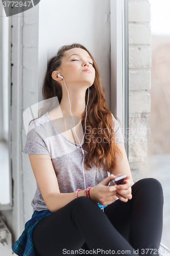
[(137, 181), (131, 200), (117, 199), (104, 212), (91, 199), (79, 197), (37, 224), (35, 255), (155, 255), (162, 236), (162, 215), (162, 186), (154, 178)]

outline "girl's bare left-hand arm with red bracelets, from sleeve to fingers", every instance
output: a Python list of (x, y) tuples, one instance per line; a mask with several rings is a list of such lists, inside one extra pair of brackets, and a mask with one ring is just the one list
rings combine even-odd
[[(49, 155), (29, 154), (29, 158), (41, 195), (50, 211), (57, 211), (76, 198), (75, 192), (60, 193), (55, 170)], [(102, 204), (114, 202), (116, 198), (116, 185), (107, 186), (114, 178), (114, 175), (110, 175), (98, 185), (94, 186), (94, 193), (91, 193), (91, 188), (91, 199)], [(78, 193), (78, 197), (85, 195), (85, 190), (79, 191)]]

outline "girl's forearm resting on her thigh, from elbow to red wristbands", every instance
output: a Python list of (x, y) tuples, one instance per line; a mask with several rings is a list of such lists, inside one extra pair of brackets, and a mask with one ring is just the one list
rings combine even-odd
[[(78, 197), (85, 196), (85, 190), (78, 192)], [(75, 192), (72, 193), (54, 193), (48, 195), (45, 200), (46, 206), (52, 212), (59, 210), (76, 198)]]

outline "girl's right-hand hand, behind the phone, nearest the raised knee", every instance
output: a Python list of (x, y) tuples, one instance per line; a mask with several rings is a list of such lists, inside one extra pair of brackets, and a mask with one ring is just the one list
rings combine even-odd
[[(121, 175), (117, 175), (121, 176)], [(127, 176), (124, 182), (120, 185), (117, 185), (117, 194), (116, 196), (119, 200), (123, 202), (128, 202), (128, 199), (132, 199), (132, 188), (130, 185), (130, 177)]]

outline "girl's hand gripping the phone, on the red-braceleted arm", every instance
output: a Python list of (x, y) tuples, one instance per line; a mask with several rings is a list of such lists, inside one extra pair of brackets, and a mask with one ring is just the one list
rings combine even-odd
[(117, 195), (117, 185), (108, 186), (109, 182), (112, 181), (116, 176), (111, 174), (98, 185), (90, 189), (90, 198), (94, 201), (99, 202), (102, 205), (108, 205), (114, 202)]

